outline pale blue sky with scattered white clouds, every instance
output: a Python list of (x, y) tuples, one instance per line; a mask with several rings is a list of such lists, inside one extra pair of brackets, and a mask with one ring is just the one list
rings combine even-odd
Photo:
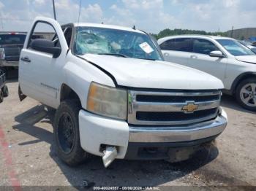
[[(165, 28), (227, 31), (256, 27), (255, 0), (55, 0), (59, 23), (136, 26), (157, 34)], [(52, 0), (0, 0), (0, 31), (28, 31), (34, 17), (53, 17)]]

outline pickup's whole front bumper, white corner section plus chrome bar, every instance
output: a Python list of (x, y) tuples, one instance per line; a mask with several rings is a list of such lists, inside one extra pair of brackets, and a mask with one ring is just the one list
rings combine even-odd
[[(217, 136), (225, 130), (227, 114), (222, 113), (216, 120), (188, 127), (132, 127), (124, 121), (111, 120), (81, 110), (79, 113), (81, 147), (94, 155), (103, 156), (101, 144), (118, 146), (116, 158), (126, 157), (129, 143), (154, 144), (189, 142)], [(183, 130), (182, 130), (183, 129)], [(115, 139), (113, 139), (115, 137)]]

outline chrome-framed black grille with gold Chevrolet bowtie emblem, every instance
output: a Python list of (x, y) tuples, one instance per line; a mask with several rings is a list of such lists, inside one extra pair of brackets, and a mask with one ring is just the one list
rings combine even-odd
[[(132, 125), (185, 125), (217, 117), (221, 92), (144, 92), (129, 90)], [(195, 111), (187, 106), (192, 104)], [(193, 109), (192, 109), (193, 110)]]

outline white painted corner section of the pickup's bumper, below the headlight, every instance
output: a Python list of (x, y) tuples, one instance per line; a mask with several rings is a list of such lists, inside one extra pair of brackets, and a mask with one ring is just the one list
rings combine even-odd
[(129, 141), (127, 122), (80, 110), (79, 131), (81, 147), (87, 152), (103, 156), (99, 148), (101, 144), (107, 144), (117, 147), (116, 158), (124, 158)]

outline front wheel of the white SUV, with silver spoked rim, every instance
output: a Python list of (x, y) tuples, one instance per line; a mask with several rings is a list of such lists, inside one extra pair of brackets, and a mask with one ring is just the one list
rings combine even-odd
[(236, 89), (236, 100), (245, 109), (256, 111), (256, 79), (244, 79)]

